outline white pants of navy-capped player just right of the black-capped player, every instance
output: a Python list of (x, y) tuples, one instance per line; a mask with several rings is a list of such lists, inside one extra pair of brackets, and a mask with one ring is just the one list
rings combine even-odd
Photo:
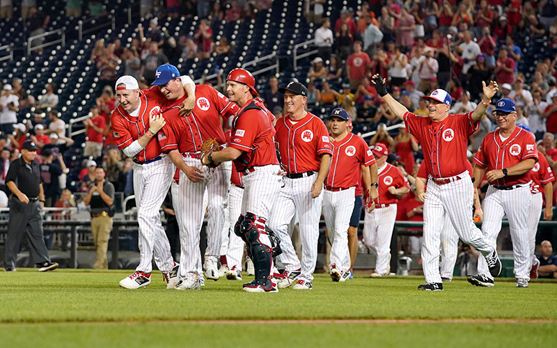
[(329, 229), (331, 244), (331, 264), (342, 271), (350, 269), (350, 251), (348, 250), (348, 228), (354, 210), (355, 187), (343, 191), (323, 193), (323, 215)]

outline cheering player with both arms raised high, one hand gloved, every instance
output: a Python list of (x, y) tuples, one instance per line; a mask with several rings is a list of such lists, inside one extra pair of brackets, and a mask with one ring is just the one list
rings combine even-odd
[[(483, 83), (484, 101), (476, 110), (449, 115), (452, 102), (445, 90), (434, 90), (424, 96), (428, 100), (429, 116), (421, 117), (410, 113), (405, 106), (386, 92), (384, 79), (375, 74), (372, 78), (377, 93), (389, 108), (405, 121), (407, 132), (416, 137), (423, 150), (423, 163), (427, 171), (427, 195), (423, 204), (423, 249), (422, 262), (426, 284), (418, 290), (443, 290), (439, 274), (439, 235), (445, 215), (455, 226), (460, 239), (480, 251), (487, 260), (492, 276), (501, 273), (501, 260), (494, 244), (489, 244), (476, 227), (470, 214), (473, 189), (466, 171), (466, 146), (469, 136), (479, 127), (479, 120), (487, 110), (493, 95), (499, 90), (496, 82), (489, 86)], [(436, 258), (437, 255), (437, 258)]]

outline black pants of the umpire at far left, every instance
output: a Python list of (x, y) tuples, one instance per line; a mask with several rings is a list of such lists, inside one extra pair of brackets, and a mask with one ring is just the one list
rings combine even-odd
[(33, 263), (50, 262), (45, 239), (42, 234), (42, 215), (40, 203), (22, 203), (13, 197), (10, 199), (10, 221), (8, 237), (4, 250), (4, 267), (15, 268), (17, 251), (24, 235), (29, 239), (29, 252)]

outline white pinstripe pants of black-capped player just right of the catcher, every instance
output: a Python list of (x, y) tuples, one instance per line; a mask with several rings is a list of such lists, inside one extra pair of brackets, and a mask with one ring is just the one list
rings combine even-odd
[[(298, 277), (312, 281), (315, 263), (317, 262), (317, 239), (319, 239), (319, 219), (323, 192), (317, 198), (311, 198), (311, 186), (317, 179), (317, 173), (299, 179), (284, 177), (285, 187), (278, 193), (276, 204), (271, 212), (269, 228), (274, 230), (281, 239), (283, 253), (278, 259), (286, 271), (301, 268)], [(288, 235), (288, 225), (294, 214), (298, 214), (301, 238), (301, 263), (298, 260), (292, 239)]]

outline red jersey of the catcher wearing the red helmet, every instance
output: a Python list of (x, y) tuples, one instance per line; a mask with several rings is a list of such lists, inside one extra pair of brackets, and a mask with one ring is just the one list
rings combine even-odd
[(237, 171), (269, 164), (278, 165), (274, 148), (275, 130), (269, 113), (271, 112), (262, 106), (262, 102), (252, 99), (235, 116), (230, 132), (230, 147), (243, 151), (234, 160)]

